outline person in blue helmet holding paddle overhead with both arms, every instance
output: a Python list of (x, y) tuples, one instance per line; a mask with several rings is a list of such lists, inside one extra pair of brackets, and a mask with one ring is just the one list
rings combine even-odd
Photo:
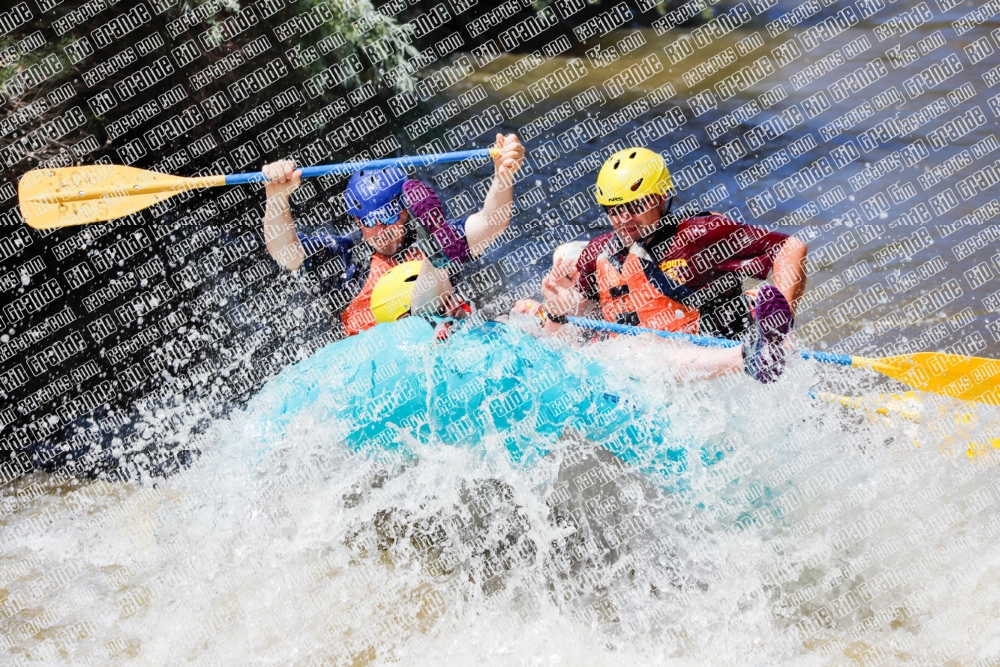
[[(499, 154), (493, 158), (494, 178), (483, 208), (465, 220), (447, 220), (434, 190), (407, 178), (398, 168), (360, 171), (351, 176), (344, 193), (347, 212), (357, 230), (347, 236), (297, 233), (289, 209), (289, 197), (299, 187), (301, 173), (291, 160), (264, 165), (269, 179), (265, 190), (264, 238), (267, 251), (284, 268), (307, 270), (322, 263), (322, 256), (339, 256), (347, 283), (357, 290), (341, 313), (344, 331), (354, 335), (375, 326), (369, 307), (379, 278), (401, 262), (423, 262), (416, 286), (418, 303), (443, 300), (446, 309), (460, 316), (464, 310), (454, 293), (448, 272), (450, 263), (461, 264), (482, 254), (510, 224), (513, 176), (524, 162), (524, 147), (517, 136), (498, 134)], [(364, 241), (371, 259), (355, 275), (351, 249)], [(322, 253), (322, 255), (320, 255)], [(314, 261), (314, 256), (320, 261)]]

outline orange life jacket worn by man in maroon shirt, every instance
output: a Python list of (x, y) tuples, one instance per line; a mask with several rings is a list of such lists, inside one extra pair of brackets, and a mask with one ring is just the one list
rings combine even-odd
[(608, 322), (660, 331), (698, 333), (698, 309), (674, 301), (646, 277), (638, 255), (629, 251), (621, 271), (607, 252), (597, 258), (601, 314)]

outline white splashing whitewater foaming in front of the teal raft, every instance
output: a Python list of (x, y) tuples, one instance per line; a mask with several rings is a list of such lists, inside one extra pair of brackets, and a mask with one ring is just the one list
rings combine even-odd
[(725, 451), (692, 450), (682, 492), (568, 432), (531, 464), (499, 437), (355, 453), (317, 410), (256, 460), (273, 384), (167, 479), (22, 480), (2, 499), (4, 664), (1000, 659), (996, 408), (844, 408), (807, 392), (870, 378), (801, 361), (769, 387), (675, 381), (659, 344), (580, 354), (646, 426)]

